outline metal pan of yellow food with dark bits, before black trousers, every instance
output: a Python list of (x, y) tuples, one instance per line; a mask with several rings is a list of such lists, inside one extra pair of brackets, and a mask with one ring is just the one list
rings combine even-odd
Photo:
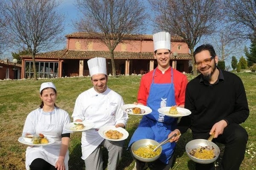
[(212, 142), (214, 133), (206, 139), (195, 139), (186, 144), (186, 154), (192, 161), (199, 164), (210, 164), (217, 160), (220, 149)]

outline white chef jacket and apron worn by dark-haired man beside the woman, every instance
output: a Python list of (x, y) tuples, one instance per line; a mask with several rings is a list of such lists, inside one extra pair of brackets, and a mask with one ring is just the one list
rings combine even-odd
[(98, 133), (99, 128), (119, 123), (126, 125), (128, 115), (120, 109), (123, 104), (122, 97), (109, 88), (98, 93), (92, 87), (78, 96), (73, 120), (81, 119), (95, 124), (93, 129), (82, 132), (82, 159), (85, 160), (104, 140)]

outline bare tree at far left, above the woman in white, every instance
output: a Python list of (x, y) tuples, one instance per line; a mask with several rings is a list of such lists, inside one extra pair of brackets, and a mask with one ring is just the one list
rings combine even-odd
[(37, 80), (35, 55), (59, 43), (64, 15), (58, 12), (56, 0), (4, 0), (2, 14), (11, 42), (27, 47), (33, 59), (34, 79)]

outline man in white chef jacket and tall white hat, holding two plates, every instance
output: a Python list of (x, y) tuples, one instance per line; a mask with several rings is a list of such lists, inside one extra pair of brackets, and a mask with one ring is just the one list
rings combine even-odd
[(124, 104), (122, 97), (107, 86), (106, 59), (92, 58), (87, 63), (93, 87), (78, 96), (72, 117), (74, 121), (89, 121), (95, 126), (82, 132), (81, 158), (87, 170), (102, 170), (103, 146), (108, 150), (108, 170), (115, 170), (121, 158), (124, 141), (104, 139), (98, 130), (109, 125), (125, 128), (128, 115), (120, 109)]

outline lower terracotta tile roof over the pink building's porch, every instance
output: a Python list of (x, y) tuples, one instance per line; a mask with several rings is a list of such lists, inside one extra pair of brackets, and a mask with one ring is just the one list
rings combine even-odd
[[(80, 50), (58, 50), (53, 52), (38, 53), (35, 58), (56, 59), (90, 59), (94, 57), (111, 58), (109, 51), (80, 51)], [(31, 58), (22, 55), (22, 58)], [(114, 52), (115, 59), (154, 59), (153, 52)], [(174, 56), (171, 56), (174, 59)], [(190, 54), (179, 53), (177, 60), (191, 60)]]

